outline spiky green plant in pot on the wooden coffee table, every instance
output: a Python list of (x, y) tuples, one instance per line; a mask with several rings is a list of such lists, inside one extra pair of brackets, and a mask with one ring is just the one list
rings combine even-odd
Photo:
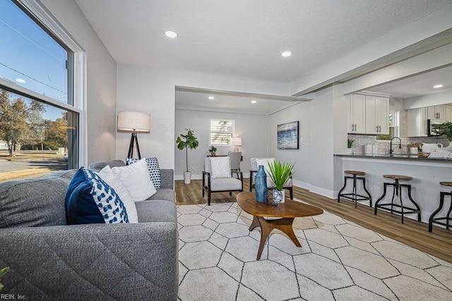
[(283, 189), (285, 182), (294, 175), (292, 172), (294, 168), (293, 163), (285, 163), (278, 160), (273, 160), (268, 164), (269, 176), (275, 183), (275, 189), (273, 189), (273, 203), (284, 203), (285, 191)]

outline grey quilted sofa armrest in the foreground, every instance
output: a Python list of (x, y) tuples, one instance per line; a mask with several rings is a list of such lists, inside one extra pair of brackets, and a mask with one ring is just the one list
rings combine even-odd
[(1, 293), (27, 300), (177, 300), (175, 223), (0, 229)]

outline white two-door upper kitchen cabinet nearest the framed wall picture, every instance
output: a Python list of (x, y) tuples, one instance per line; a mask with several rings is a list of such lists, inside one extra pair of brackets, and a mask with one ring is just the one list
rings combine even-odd
[(353, 94), (350, 98), (350, 134), (389, 134), (389, 98)]

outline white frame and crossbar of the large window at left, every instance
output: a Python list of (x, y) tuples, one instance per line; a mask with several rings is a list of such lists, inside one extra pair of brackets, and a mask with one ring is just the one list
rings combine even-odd
[(0, 78), (0, 86), (3, 86), (5, 90), (10, 90), (12, 93), (78, 113), (77, 162), (79, 166), (88, 165), (86, 52), (40, 1), (13, 0), (13, 3), (21, 8), (32, 20), (42, 25), (43, 30), (59, 42), (62, 47), (66, 48), (68, 52), (72, 53), (72, 55), (68, 55), (68, 70), (70, 70), (69, 66), (72, 67), (72, 72), (68, 72), (68, 104), (17, 85), (12, 81), (6, 81), (3, 78)]

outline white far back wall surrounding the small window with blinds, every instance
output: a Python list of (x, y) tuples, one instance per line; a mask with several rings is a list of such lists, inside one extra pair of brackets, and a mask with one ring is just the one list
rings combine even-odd
[[(267, 117), (265, 115), (208, 112), (199, 110), (176, 110), (175, 136), (186, 134), (185, 129), (194, 130), (198, 138), (199, 146), (196, 150), (189, 150), (189, 168), (192, 166), (192, 179), (201, 179), (204, 158), (209, 155), (209, 119), (234, 119), (235, 136), (242, 138), (243, 160), (240, 169), (244, 177), (249, 177), (250, 159), (253, 157), (267, 156)], [(234, 146), (218, 146), (217, 155), (227, 155), (228, 151), (233, 151)], [(174, 178), (183, 179), (185, 171), (185, 151), (176, 149)]]

